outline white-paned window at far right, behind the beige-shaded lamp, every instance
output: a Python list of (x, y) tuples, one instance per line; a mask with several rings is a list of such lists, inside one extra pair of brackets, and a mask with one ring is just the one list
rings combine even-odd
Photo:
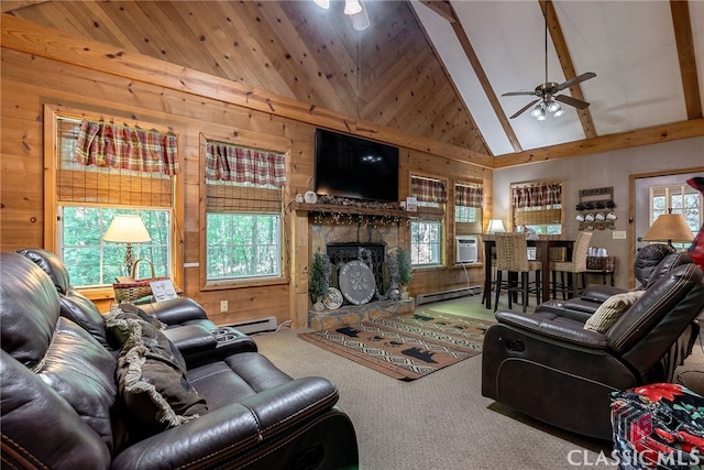
[[(688, 227), (696, 233), (704, 223), (702, 205), (701, 193), (690, 185), (653, 186), (650, 188), (650, 225), (672, 209), (672, 214), (681, 214)], [(673, 242), (672, 245), (680, 250), (690, 243)]]

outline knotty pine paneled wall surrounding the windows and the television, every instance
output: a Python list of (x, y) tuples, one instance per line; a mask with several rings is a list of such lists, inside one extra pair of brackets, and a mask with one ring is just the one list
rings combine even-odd
[[(219, 140), (288, 152), (286, 200), (312, 188), (312, 123), (246, 109), (217, 95), (217, 83), (207, 92), (185, 92), (117, 76), (78, 65), (3, 47), (1, 51), (1, 198), (0, 244), (3, 251), (24, 247), (44, 247), (44, 107), (68, 107), (90, 113), (143, 120), (168, 127), (179, 141), (183, 173), (179, 184), (184, 194), (183, 261), (202, 264), (204, 215), (200, 209), (200, 139)], [(207, 87), (208, 84), (205, 84)], [(486, 194), (492, 193), (492, 170), (446, 159), (442, 155), (402, 149), (400, 197), (408, 190), (411, 173), (452, 179), (481, 179)], [(485, 207), (491, 208), (491, 197)], [(206, 289), (198, 267), (184, 269), (185, 295), (201, 303), (220, 324), (275, 316), (279, 323), (296, 320), (301, 327), (307, 309), (307, 264), (309, 227), (305, 220), (290, 217), (287, 223), (290, 241), (290, 281), (242, 288)], [(451, 241), (448, 240), (451, 253)], [(469, 270), (471, 283), (481, 283), (483, 271)], [(461, 267), (418, 272), (411, 294), (464, 286), (466, 275)], [(230, 313), (217, 314), (220, 300), (227, 299)]]

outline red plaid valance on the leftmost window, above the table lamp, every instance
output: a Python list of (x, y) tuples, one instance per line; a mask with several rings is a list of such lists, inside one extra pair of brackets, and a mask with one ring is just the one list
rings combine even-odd
[(107, 122), (80, 123), (76, 161), (86, 166), (169, 176), (179, 172), (176, 135)]

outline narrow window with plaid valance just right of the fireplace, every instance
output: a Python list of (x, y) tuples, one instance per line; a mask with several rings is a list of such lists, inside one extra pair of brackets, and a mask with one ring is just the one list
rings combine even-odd
[(446, 184), (421, 176), (410, 177), (410, 194), (418, 200), (418, 218), (410, 222), (413, 266), (442, 264), (442, 220), (448, 200)]

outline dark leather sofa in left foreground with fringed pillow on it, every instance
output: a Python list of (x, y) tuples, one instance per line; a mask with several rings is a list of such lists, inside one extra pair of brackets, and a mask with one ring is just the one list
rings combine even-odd
[(244, 336), (176, 325), (198, 319), (193, 302), (163, 311), (168, 329), (129, 306), (101, 315), (33, 261), (0, 254), (3, 467), (356, 467), (328, 380), (290, 378)]

